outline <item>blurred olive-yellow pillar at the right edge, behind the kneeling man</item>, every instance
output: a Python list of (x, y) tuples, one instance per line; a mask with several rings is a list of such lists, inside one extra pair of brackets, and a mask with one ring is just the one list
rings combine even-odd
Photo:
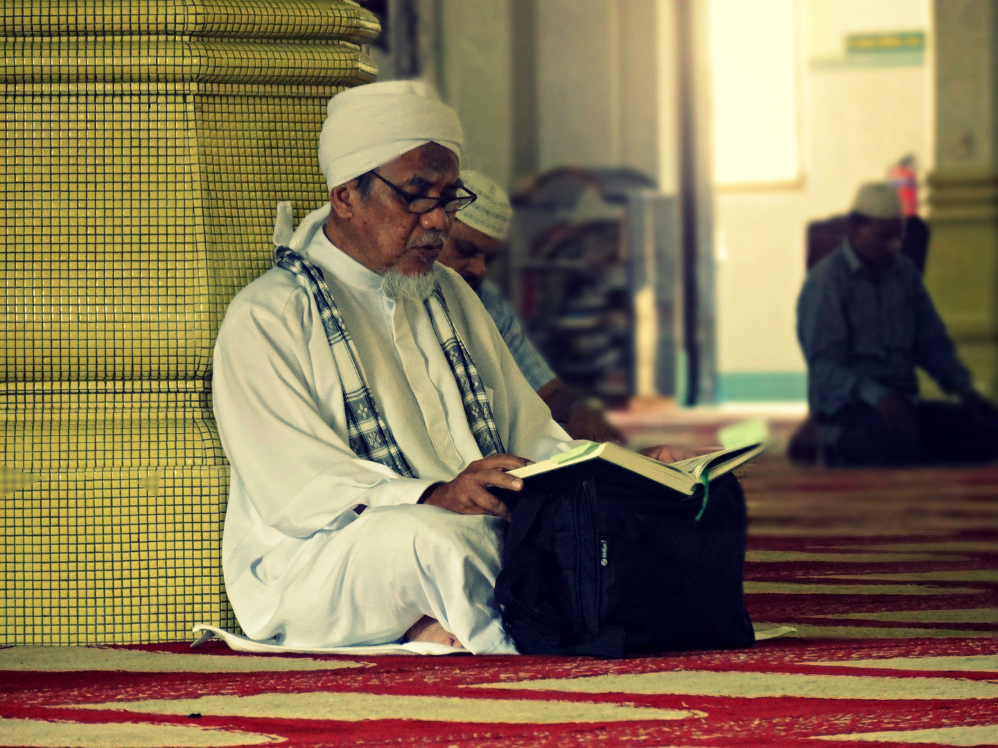
[(998, 0), (935, 0), (934, 15), (925, 281), (978, 387), (998, 396)]

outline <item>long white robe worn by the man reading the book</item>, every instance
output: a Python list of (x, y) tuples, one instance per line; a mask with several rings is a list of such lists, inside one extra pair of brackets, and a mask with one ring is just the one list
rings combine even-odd
[[(482, 457), (429, 316), (421, 302), (385, 296), (381, 277), (322, 231), (306, 253), (419, 478), (350, 451), (339, 378), (302, 281), (272, 268), (250, 283), (219, 331), (213, 382), (232, 464), (223, 567), (240, 624), (256, 639), (346, 646), (397, 639), (428, 614), (473, 652), (515, 651), (492, 596), (505, 523), (416, 504)], [(566, 449), (568, 435), (481, 301), (455, 272), (436, 267), (506, 451), (543, 460)], [(371, 509), (358, 517), (358, 505)]]

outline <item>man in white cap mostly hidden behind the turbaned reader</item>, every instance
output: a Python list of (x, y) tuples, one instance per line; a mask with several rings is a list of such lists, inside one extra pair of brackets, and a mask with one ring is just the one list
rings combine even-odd
[(461, 182), (477, 199), (461, 210), (437, 261), (458, 272), (482, 300), (509, 346), (523, 376), (530, 382), (556, 421), (574, 439), (622, 442), (622, 434), (603, 415), (602, 404), (566, 386), (526, 336), (516, 312), (499, 287), (486, 279), (489, 261), (506, 249), (513, 209), (502, 187), (471, 169), (461, 171)]

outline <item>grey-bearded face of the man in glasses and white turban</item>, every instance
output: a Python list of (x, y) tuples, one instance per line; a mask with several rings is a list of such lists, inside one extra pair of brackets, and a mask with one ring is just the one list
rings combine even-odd
[[(378, 168), (377, 174), (408, 195), (439, 197), (458, 188), (459, 166), (450, 150), (427, 143)], [(351, 233), (357, 245), (348, 252), (374, 272), (398, 268), (404, 275), (430, 271), (443, 248), (454, 216), (436, 207), (409, 212), (400, 195), (380, 180), (366, 195), (356, 194)]]

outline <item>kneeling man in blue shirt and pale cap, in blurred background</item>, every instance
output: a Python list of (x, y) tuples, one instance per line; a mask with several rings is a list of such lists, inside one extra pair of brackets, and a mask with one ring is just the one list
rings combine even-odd
[[(817, 433), (791, 448), (811, 443), (832, 466), (994, 460), (998, 407), (974, 389), (918, 270), (899, 253), (903, 218), (894, 187), (863, 185), (842, 245), (807, 275), (797, 336)], [(959, 402), (921, 400), (916, 366)]]

